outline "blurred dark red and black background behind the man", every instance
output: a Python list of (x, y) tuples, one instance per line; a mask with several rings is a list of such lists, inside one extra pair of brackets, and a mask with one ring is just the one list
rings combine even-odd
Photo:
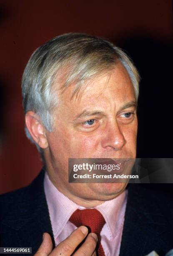
[(24, 132), (21, 77), (50, 38), (85, 32), (125, 49), (140, 76), (137, 156), (173, 157), (171, 0), (0, 1), (0, 193), (29, 184), (41, 168)]

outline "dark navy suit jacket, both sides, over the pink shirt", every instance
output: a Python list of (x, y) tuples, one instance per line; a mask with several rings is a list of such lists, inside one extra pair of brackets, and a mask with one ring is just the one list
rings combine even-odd
[[(32, 247), (33, 255), (43, 232), (53, 238), (43, 180), (44, 171), (28, 187), (0, 196), (1, 247)], [(161, 256), (173, 248), (173, 198), (148, 185), (128, 185), (120, 256)]]

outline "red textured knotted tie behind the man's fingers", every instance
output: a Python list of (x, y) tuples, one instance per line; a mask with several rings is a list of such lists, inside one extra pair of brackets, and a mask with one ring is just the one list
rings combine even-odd
[(105, 256), (103, 247), (100, 243), (101, 237), (100, 232), (105, 224), (105, 219), (102, 214), (96, 209), (85, 209), (76, 210), (70, 217), (70, 222), (72, 222), (76, 227), (81, 225), (90, 228), (91, 233), (96, 233), (98, 236), (98, 255)]

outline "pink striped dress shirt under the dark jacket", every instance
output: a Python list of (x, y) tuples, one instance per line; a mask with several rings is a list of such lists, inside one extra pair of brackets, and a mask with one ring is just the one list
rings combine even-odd
[[(75, 225), (68, 221), (73, 212), (86, 208), (75, 204), (59, 192), (47, 173), (45, 173), (44, 189), (55, 245), (58, 245), (76, 229)], [(105, 218), (105, 225), (100, 233), (105, 256), (119, 255), (126, 203), (127, 190), (113, 200), (105, 201), (95, 207)]]

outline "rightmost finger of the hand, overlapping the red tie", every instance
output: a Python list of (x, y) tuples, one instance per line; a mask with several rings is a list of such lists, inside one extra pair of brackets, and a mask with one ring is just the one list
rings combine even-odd
[(97, 241), (98, 241), (97, 235), (95, 233), (90, 233), (86, 238), (85, 242), (83, 243), (83, 245), (80, 246), (78, 251), (74, 253), (74, 256), (81, 256), (81, 255), (92, 256), (95, 251)]

